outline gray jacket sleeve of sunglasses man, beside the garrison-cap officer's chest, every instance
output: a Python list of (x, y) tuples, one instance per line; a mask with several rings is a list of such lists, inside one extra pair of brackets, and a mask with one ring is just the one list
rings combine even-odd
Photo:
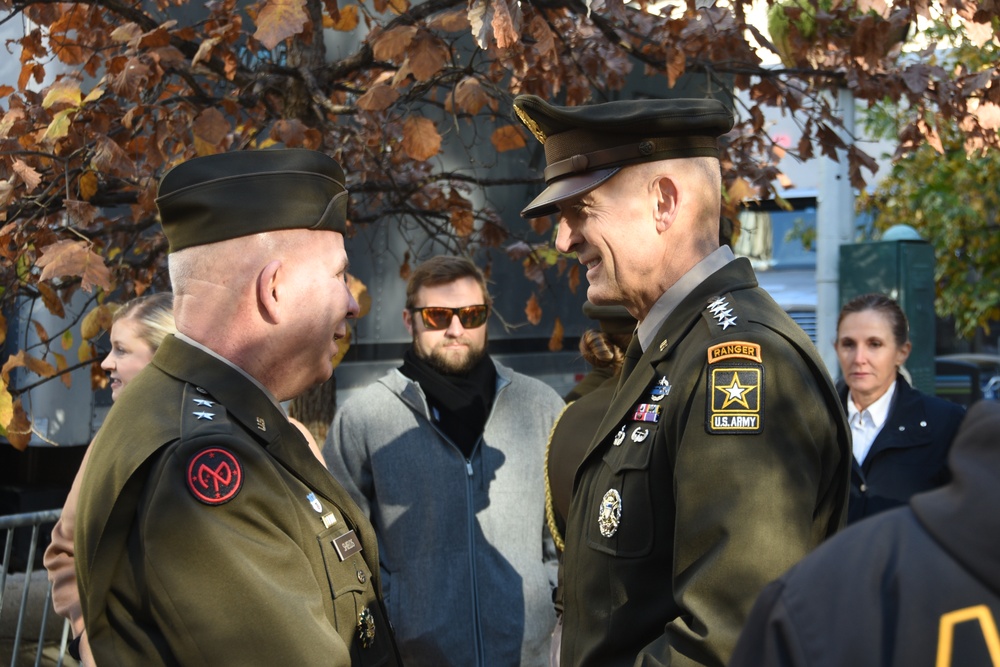
[[(371, 461), (364, 435), (368, 430), (358, 425), (358, 410), (364, 406), (346, 402), (333, 417), (323, 443), (323, 458), (327, 468), (341, 486), (351, 495), (365, 516), (371, 519), (371, 502), (374, 493)], [(363, 421), (363, 418), (362, 418)]]

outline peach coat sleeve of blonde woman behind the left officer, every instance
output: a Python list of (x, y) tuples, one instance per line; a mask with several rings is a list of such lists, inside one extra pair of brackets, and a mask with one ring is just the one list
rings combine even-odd
[(87, 465), (90, 450), (83, 455), (80, 469), (70, 487), (62, 514), (52, 528), (52, 542), (45, 549), (43, 563), (52, 582), (52, 606), (60, 616), (68, 618), (73, 627), (73, 636), (83, 632), (83, 609), (80, 606), (80, 592), (76, 586), (76, 551), (73, 535), (76, 526), (76, 505), (80, 497), (80, 480)]

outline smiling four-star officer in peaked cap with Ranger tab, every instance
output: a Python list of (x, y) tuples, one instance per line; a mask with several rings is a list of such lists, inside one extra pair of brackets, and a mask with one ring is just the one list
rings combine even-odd
[(544, 144), (556, 247), (639, 325), (576, 471), (563, 667), (725, 665), (758, 592), (844, 520), (851, 450), (805, 333), (719, 245), (710, 99), (514, 100)]

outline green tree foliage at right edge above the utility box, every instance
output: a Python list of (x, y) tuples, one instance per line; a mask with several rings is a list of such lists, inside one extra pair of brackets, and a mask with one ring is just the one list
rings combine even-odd
[[(938, 52), (926, 65), (954, 71), (965, 80), (995, 70), (1000, 58), (995, 40), (974, 43), (948, 24), (935, 24), (928, 34), (951, 40), (954, 48)], [(922, 99), (884, 99), (866, 114), (872, 136), (894, 139), (905, 136), (907, 128), (926, 129), (929, 140), (911, 146), (904, 141), (903, 156), (859, 206), (877, 214), (877, 229), (907, 224), (934, 246), (935, 309), (954, 318), (955, 331), (963, 338), (971, 338), (978, 327), (989, 333), (989, 323), (1000, 319), (1000, 153), (985, 150), (964, 131), (973, 124), (990, 131), (990, 122), (988, 113), (974, 114), (964, 121), (966, 128), (960, 127), (935, 116)]]

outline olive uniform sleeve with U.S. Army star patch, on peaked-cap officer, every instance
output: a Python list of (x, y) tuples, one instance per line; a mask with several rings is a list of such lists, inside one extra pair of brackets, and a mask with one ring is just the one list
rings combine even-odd
[[(725, 665), (760, 591), (839, 517), (831, 489), (835, 471), (846, 470), (846, 445), (837, 441), (841, 417), (830, 411), (827, 383), (778, 336), (744, 335), (760, 345), (760, 363), (708, 364), (673, 447), (674, 434), (666, 436), (675, 458), (672, 593), (681, 614), (649, 652), (670, 654), (670, 665)], [(757, 410), (760, 421), (716, 420), (726, 410)], [(846, 488), (846, 475), (840, 482)], [(636, 664), (648, 663), (640, 656)]]

